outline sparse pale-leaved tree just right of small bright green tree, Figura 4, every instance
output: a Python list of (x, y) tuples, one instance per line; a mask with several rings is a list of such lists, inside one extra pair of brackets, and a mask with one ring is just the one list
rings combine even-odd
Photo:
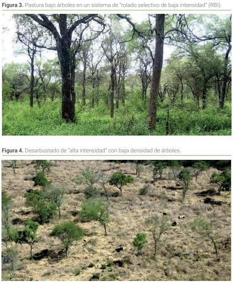
[(170, 227), (169, 218), (166, 215), (158, 217), (157, 215), (149, 218), (145, 225), (149, 228), (149, 231), (152, 233), (153, 239), (155, 241), (155, 255), (157, 251), (157, 243), (162, 236), (162, 234), (167, 231)]

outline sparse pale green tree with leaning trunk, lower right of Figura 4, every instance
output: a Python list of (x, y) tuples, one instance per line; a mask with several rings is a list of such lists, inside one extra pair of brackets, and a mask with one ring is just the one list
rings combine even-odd
[(216, 258), (218, 258), (218, 248), (216, 244), (216, 236), (213, 234), (213, 222), (203, 217), (196, 217), (191, 223), (191, 229), (197, 234), (207, 237), (214, 245)]

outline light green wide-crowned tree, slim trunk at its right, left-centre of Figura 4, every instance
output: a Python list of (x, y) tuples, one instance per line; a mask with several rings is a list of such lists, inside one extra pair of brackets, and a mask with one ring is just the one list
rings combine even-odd
[(107, 236), (107, 224), (109, 215), (105, 203), (100, 198), (89, 198), (82, 203), (82, 209), (79, 215), (88, 220), (95, 220), (104, 227), (105, 236)]

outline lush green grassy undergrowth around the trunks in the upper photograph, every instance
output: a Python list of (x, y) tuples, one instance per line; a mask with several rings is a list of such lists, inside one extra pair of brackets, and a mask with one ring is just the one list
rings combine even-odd
[[(186, 106), (188, 107), (188, 106)], [(188, 107), (193, 109), (193, 106)], [(231, 103), (225, 108), (208, 106), (204, 110), (174, 108), (170, 111), (169, 135), (231, 135)], [(2, 108), (2, 135), (5, 136), (165, 136), (166, 112), (157, 110), (156, 130), (148, 131), (147, 105), (140, 99), (126, 101), (115, 109), (114, 118), (100, 101), (94, 108), (88, 105), (76, 106), (74, 123), (66, 123), (61, 118), (61, 101), (35, 102), (30, 109), (29, 102), (11, 101)]]

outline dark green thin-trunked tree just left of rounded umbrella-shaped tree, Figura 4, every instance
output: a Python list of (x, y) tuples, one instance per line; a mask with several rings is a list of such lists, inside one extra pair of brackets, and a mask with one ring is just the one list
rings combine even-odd
[(37, 236), (38, 228), (38, 222), (27, 220), (24, 229), (18, 231), (18, 237), (16, 238), (16, 242), (30, 245), (30, 259), (33, 258), (33, 245), (41, 240), (41, 237)]

